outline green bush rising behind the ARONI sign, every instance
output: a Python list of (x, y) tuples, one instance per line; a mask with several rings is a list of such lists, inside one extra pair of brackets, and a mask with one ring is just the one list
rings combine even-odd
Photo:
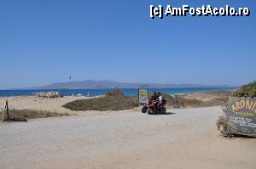
[(256, 97), (256, 81), (251, 82), (247, 85), (242, 86), (239, 88), (236, 93), (234, 93), (235, 97)]

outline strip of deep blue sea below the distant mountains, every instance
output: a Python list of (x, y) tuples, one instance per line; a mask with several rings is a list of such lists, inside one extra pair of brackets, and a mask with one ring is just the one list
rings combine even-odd
[[(148, 88), (148, 93), (160, 92), (168, 94), (180, 94), (180, 93), (201, 93), (201, 92), (218, 92), (221, 90), (236, 90), (237, 87), (184, 87), (184, 88)], [(83, 96), (99, 96), (105, 95), (111, 88), (108, 89), (42, 89), (42, 90), (0, 90), (0, 97), (9, 96), (27, 96), (35, 95), (37, 93), (44, 93), (50, 91), (58, 91), (64, 96), (72, 96), (82, 94)], [(137, 95), (137, 88), (121, 88), (125, 95)]]

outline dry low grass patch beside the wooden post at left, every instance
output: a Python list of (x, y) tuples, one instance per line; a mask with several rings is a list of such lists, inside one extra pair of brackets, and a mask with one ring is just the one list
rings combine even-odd
[[(26, 121), (26, 119), (47, 118), (69, 115), (67, 113), (57, 113), (55, 111), (44, 110), (9, 110), (9, 121)], [(0, 117), (3, 120), (3, 115)]]

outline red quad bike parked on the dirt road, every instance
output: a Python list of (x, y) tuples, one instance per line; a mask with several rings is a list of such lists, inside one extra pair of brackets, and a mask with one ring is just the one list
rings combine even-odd
[(164, 115), (166, 114), (166, 100), (163, 99), (162, 104), (158, 105), (159, 102), (157, 101), (149, 101), (148, 104), (143, 106), (142, 112), (148, 113), (148, 115)]

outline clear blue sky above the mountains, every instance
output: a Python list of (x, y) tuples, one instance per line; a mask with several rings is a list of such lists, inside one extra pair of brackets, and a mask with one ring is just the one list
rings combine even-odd
[[(150, 19), (153, 4), (250, 8), (249, 17)], [(0, 89), (54, 82), (256, 80), (256, 1), (1, 0)]]

